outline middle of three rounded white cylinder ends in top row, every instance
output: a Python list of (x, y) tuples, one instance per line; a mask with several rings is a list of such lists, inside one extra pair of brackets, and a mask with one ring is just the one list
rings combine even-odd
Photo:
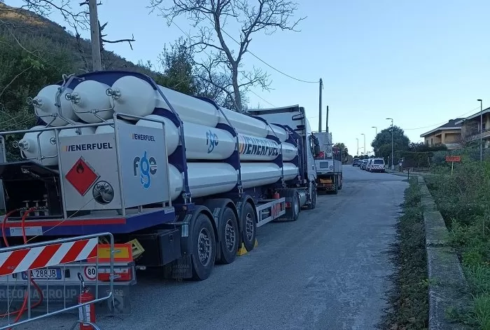
[[(75, 114), (85, 123), (100, 123), (100, 118), (109, 119), (113, 116), (111, 99), (106, 95), (109, 86), (98, 81), (82, 81), (71, 93), (71, 102), (75, 108)], [(98, 110), (97, 116), (90, 111)]]

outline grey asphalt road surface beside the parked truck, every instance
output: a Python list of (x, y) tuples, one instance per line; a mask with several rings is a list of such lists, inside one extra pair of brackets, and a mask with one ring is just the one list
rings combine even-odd
[[(391, 287), (386, 251), (395, 240), (404, 179), (346, 166), (342, 191), (318, 196), (316, 209), (303, 210), (298, 221), (259, 228), (253, 252), (216, 266), (204, 282), (164, 283), (141, 273), (132, 313), (102, 316), (97, 324), (103, 330), (375, 329)], [(69, 329), (67, 319), (51, 319), (48, 328)]]

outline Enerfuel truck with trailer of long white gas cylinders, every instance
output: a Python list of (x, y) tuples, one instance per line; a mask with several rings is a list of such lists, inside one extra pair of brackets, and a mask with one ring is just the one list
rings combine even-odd
[[(215, 262), (251, 251), (258, 227), (316, 205), (301, 106), (238, 113), (125, 71), (64, 76), (29, 103), (38, 125), (0, 133), (22, 137), (13, 143), (22, 159), (0, 163), (3, 235), (20, 245), (22, 231), (29, 242), (111, 233), (119, 287), (153, 267), (205, 280)], [(90, 286), (109, 280), (104, 260), (31, 276), (52, 288), (79, 287), (81, 275)]]

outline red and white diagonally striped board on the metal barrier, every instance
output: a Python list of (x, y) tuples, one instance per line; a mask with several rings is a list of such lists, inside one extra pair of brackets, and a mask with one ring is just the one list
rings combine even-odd
[(0, 252), (0, 276), (97, 256), (98, 238)]

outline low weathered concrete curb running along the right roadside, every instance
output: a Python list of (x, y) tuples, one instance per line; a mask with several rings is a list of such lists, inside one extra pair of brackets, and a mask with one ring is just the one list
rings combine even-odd
[(463, 275), (458, 256), (449, 246), (449, 231), (442, 215), (437, 210), (426, 181), (418, 176), (426, 229), (426, 252), (428, 272), (429, 330), (460, 330), (468, 326), (449, 319), (447, 312), (467, 308), (470, 304), (470, 289)]

